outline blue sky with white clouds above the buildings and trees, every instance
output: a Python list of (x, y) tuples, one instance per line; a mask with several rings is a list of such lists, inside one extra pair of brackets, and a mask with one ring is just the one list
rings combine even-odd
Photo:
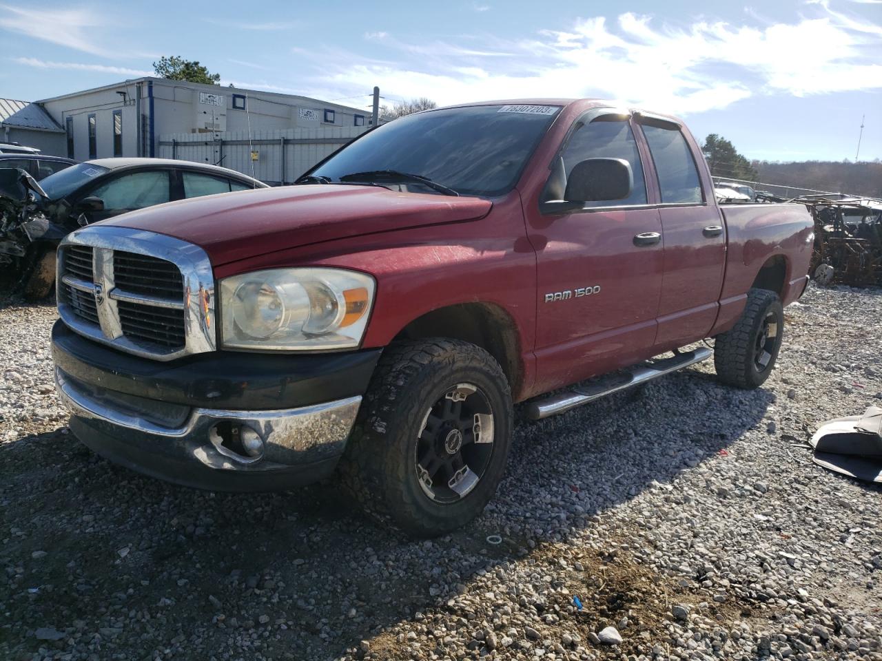
[(0, 0), (0, 97), (198, 60), (222, 85), (365, 108), (596, 97), (680, 115), (749, 159), (882, 158), (882, 0), (41, 4)]

